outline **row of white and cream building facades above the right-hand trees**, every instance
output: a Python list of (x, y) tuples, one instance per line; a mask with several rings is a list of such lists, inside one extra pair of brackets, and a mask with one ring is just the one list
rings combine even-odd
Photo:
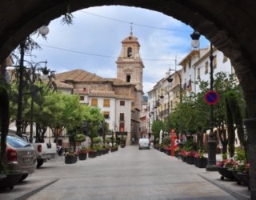
[[(214, 75), (221, 71), (234, 73), (230, 59), (215, 47), (213, 58)], [(210, 46), (191, 50), (178, 63), (178, 69), (181, 70), (167, 71), (166, 76), (148, 92), (150, 127), (154, 120), (167, 121), (177, 103), (182, 102), (182, 98), (200, 92), (198, 80), (210, 82)]]

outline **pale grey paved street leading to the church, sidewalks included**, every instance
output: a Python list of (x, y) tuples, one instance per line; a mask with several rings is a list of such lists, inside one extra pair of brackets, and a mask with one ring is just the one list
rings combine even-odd
[[(230, 188), (232, 195), (226, 192)], [(126, 146), (75, 164), (65, 164), (63, 157), (46, 162), (12, 192), (0, 193), (0, 199), (228, 200), (249, 199), (249, 195), (246, 186), (221, 181), (218, 172), (206, 172), (158, 150)]]

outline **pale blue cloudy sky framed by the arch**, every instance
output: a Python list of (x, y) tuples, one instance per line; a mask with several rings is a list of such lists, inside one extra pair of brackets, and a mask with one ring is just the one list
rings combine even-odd
[[(193, 29), (165, 14), (128, 6), (98, 6), (72, 13), (73, 24), (62, 24), (62, 17), (52, 20), (46, 39), (34, 35), (42, 50), (34, 50), (30, 61), (47, 60), (55, 74), (69, 70), (86, 70), (102, 78), (116, 78), (122, 40), (132, 32), (140, 43), (145, 66), (145, 95), (166, 76), (169, 69), (181, 69), (178, 63), (192, 50)], [(209, 45), (204, 36), (200, 48)], [(175, 65), (177, 63), (177, 65)]]

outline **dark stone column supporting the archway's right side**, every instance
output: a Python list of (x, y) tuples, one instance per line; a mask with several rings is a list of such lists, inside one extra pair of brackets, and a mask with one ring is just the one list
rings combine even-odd
[(249, 151), (249, 163), (250, 163), (250, 199), (256, 199), (256, 118), (244, 119), (246, 126), (246, 132), (248, 135), (248, 151)]

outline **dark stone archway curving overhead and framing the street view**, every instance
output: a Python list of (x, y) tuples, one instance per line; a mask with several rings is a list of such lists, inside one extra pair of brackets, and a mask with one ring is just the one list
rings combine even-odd
[[(18, 46), (22, 38), (38, 27), (48, 24), (50, 20), (66, 12), (110, 5), (156, 10), (198, 30), (230, 58), (245, 94), (248, 117), (256, 117), (256, 2), (251, 0), (2, 0), (0, 63)], [(252, 150), (252, 154), (256, 154), (256, 150)], [(256, 166), (253, 160), (250, 164)], [(251, 186), (251, 191), (256, 197), (256, 179), (254, 185)]]

